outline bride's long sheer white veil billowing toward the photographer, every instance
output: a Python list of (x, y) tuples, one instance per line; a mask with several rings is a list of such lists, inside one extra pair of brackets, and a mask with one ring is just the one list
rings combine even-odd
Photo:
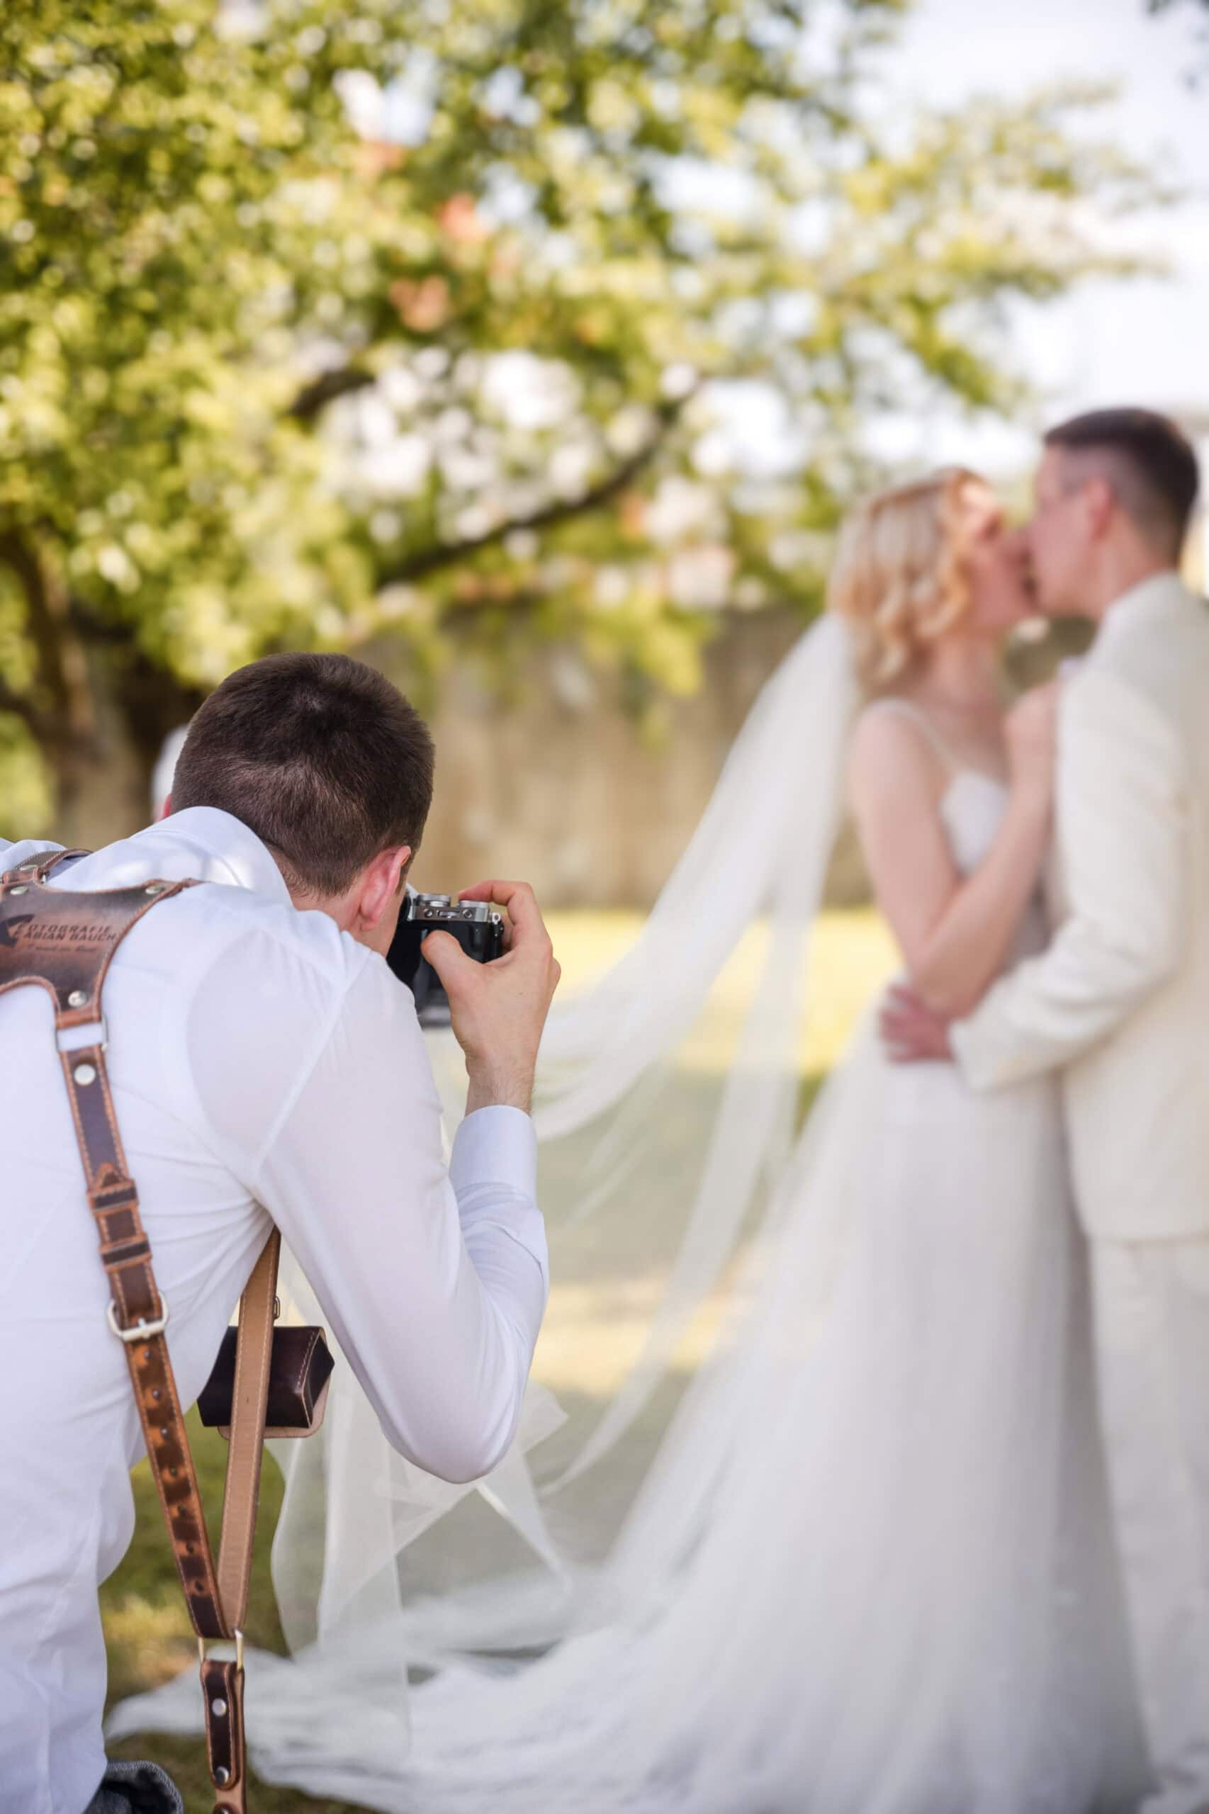
[[(643, 1520), (630, 1517), (619, 1546), (617, 1529), (652, 1491), (666, 1506), (668, 1478), (683, 1482), (683, 1518), (661, 1518), (654, 1549), (650, 1531), (643, 1538), (646, 1575), (661, 1549), (672, 1562), (688, 1540), (708, 1493), (708, 1440), (703, 1449), (697, 1429), (661, 1453), (659, 1437), (690, 1371), (684, 1339), (695, 1342), (693, 1362), (703, 1350), (724, 1353), (719, 1302), (748, 1297), (759, 1241), (746, 1263), (741, 1250), (784, 1197), (810, 934), (842, 813), (855, 704), (848, 633), (824, 617), (761, 691), (635, 945), (550, 1016), (534, 1116), (552, 1308), (561, 1292), (566, 1348), (577, 1302), (612, 1306), (608, 1390), (590, 1380), (559, 1390), (559, 1408), (532, 1386), (505, 1462), (476, 1487), (447, 1486), (388, 1448), (338, 1357), (319, 1437), (274, 1446), (287, 1478), (274, 1585), (290, 1651), (305, 1658), (301, 1667), (261, 1656), (249, 1665), (254, 1763), (272, 1751), (274, 1709), (287, 1703), (292, 1743), (300, 1709), (339, 1723), (341, 1702), (352, 1712), (369, 1696), (390, 1705), (388, 1741), (403, 1745), (408, 1667), (545, 1645), (599, 1616), (624, 1593)], [(456, 1119), (461, 1056), (448, 1036), (436, 1036), (432, 1056)], [(824, 1108), (821, 1126), (835, 1116)], [(811, 1146), (813, 1123), (795, 1172), (811, 1163)], [(801, 1203), (801, 1179), (793, 1197)], [(826, 1252), (821, 1230), (819, 1272)], [(321, 1321), (296, 1264), (283, 1261), (287, 1317)], [(599, 1322), (597, 1310), (597, 1342)], [(127, 1702), (111, 1731), (196, 1723), (191, 1682)]]

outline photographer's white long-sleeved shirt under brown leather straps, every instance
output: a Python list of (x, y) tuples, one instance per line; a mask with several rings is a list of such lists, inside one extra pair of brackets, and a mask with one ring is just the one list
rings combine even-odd
[[(0, 869), (38, 845), (0, 842)], [(447, 1170), (410, 990), (265, 845), (194, 807), (53, 878), (198, 876), (122, 943), (109, 1076), (183, 1404), (269, 1217), (390, 1442), (468, 1480), (517, 1424), (546, 1301), (528, 1116), (481, 1108)], [(103, 1772), (96, 1587), (143, 1451), (42, 989), (0, 996), (0, 1810), (80, 1814)], [(167, 1542), (167, 1538), (165, 1538)]]

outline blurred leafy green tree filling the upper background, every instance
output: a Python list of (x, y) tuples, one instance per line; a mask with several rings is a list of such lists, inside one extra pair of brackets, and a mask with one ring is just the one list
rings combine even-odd
[(263, 649), (688, 688), (703, 613), (808, 610), (864, 423), (1011, 406), (1006, 301), (1145, 190), (1058, 96), (880, 118), (899, 11), (7, 0), (0, 709), (64, 793)]

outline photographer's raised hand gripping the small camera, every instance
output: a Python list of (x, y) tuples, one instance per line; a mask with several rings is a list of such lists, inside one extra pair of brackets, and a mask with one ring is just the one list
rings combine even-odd
[(448, 932), (428, 932), (423, 943), (467, 1054), (467, 1114), (492, 1103), (526, 1110), (541, 1029), (561, 976), (550, 934), (526, 882), (479, 882), (457, 898), (508, 912), (505, 952), (494, 963), (476, 963)]

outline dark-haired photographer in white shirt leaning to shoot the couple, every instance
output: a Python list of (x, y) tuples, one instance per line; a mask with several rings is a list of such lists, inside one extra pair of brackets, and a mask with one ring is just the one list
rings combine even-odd
[[(430, 798), (432, 740), (394, 686), (338, 655), (269, 657), (198, 711), (172, 814), (53, 885), (209, 883), (140, 920), (105, 983), (182, 1402), (272, 1219), (390, 1442), (468, 1480), (512, 1440), (545, 1310), (526, 1110), (559, 972), (523, 883), (472, 891), (508, 911), (496, 963), (428, 938), (468, 1072), (447, 1170), (412, 996), (383, 961)], [(33, 849), (0, 844), (0, 869)], [(0, 996), (0, 1809), (84, 1814), (122, 1807), (98, 1790), (96, 1587), (131, 1542), (143, 1444), (42, 989)]]

